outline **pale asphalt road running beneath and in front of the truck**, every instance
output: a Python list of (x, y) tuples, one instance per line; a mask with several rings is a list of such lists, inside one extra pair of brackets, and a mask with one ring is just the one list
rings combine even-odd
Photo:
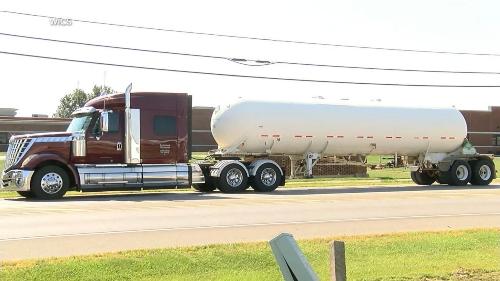
[[(251, 190), (251, 189), (250, 189)], [(0, 260), (136, 248), (500, 226), (500, 185), (281, 188), (0, 200)]]

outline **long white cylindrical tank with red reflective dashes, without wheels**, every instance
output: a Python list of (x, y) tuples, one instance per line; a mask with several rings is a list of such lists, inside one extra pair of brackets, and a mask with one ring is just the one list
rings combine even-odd
[(416, 155), (451, 152), (467, 126), (455, 108), (384, 105), (380, 101), (311, 103), (237, 99), (211, 117), (212, 135), (227, 152), (271, 155)]

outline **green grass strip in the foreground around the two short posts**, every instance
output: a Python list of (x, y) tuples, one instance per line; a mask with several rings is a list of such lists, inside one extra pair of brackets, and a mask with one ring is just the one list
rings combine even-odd
[[(500, 277), (498, 228), (298, 240), (320, 280), (329, 280), (328, 243), (345, 241), (349, 280), (472, 280)], [(282, 280), (267, 242), (129, 250), (7, 261), (7, 280)], [(463, 269), (465, 268), (465, 269)], [(469, 279), (471, 280), (471, 279)]]

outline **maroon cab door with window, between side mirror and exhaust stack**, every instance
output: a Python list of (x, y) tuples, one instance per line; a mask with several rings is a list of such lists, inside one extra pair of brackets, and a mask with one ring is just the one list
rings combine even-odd
[(87, 130), (87, 161), (90, 163), (123, 162), (123, 113), (109, 112), (108, 131), (100, 131), (99, 113)]

